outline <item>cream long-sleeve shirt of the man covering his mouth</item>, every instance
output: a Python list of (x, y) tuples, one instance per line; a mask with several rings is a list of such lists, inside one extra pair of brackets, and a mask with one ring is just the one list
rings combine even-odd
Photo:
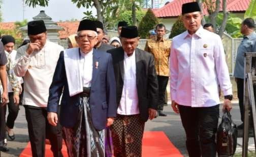
[(26, 53), (27, 47), (28, 44), (17, 49), (18, 61), (14, 68), (17, 76), (24, 76), (23, 104), (45, 108), (49, 87), (63, 47), (47, 40), (40, 51), (30, 55)]

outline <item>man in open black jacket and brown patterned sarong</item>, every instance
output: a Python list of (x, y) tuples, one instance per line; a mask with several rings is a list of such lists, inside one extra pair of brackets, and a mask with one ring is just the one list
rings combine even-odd
[(151, 54), (136, 48), (138, 29), (122, 27), (122, 46), (112, 55), (117, 93), (117, 117), (111, 126), (114, 156), (141, 156), (145, 122), (156, 115), (158, 84)]

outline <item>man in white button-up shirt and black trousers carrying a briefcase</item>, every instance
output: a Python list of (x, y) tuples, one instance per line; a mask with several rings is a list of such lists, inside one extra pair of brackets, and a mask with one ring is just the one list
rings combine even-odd
[(182, 5), (187, 31), (173, 38), (170, 57), (172, 108), (180, 113), (189, 156), (216, 156), (219, 116), (218, 84), (223, 110), (232, 109), (232, 84), (220, 37), (204, 30), (197, 2)]

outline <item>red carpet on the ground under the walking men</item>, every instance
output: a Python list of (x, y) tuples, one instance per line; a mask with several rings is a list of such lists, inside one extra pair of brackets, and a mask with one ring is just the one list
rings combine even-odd
[[(46, 144), (45, 156), (53, 156), (50, 145)], [(63, 156), (68, 157), (67, 147), (63, 144), (62, 147)], [(21, 152), (20, 157), (30, 157), (31, 147), (30, 143), (27, 144), (25, 149)], [(143, 135), (142, 145), (142, 156), (143, 157), (180, 157), (183, 156), (179, 150), (171, 143), (166, 134), (163, 131), (146, 131)]]

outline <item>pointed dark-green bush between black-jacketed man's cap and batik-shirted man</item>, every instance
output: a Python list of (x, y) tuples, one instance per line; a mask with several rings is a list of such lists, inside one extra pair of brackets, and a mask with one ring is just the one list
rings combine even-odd
[(148, 9), (146, 15), (139, 24), (139, 35), (141, 38), (148, 38), (149, 31), (159, 23), (151, 9)]

